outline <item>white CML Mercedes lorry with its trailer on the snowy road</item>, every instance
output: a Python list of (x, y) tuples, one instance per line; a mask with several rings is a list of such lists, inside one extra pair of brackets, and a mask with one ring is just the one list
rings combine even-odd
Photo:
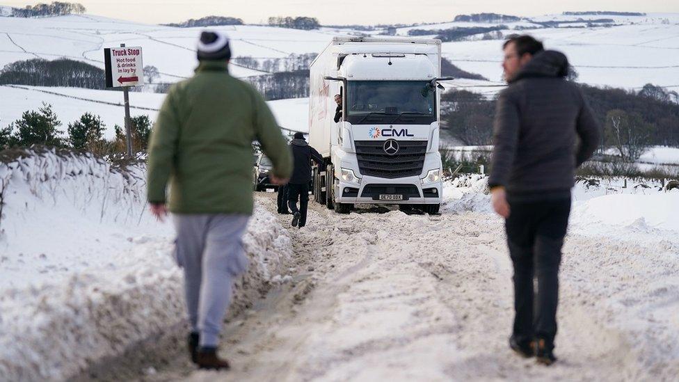
[[(326, 163), (314, 199), (347, 213), (358, 203), (436, 213), (441, 42), (335, 37), (310, 67), (309, 141)], [(335, 122), (335, 95), (342, 116)]]

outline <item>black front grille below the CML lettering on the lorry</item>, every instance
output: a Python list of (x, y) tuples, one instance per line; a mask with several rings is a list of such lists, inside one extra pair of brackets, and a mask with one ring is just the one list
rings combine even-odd
[(384, 152), (385, 141), (356, 141), (358, 169), (362, 175), (394, 179), (422, 174), (427, 141), (398, 141), (399, 152)]

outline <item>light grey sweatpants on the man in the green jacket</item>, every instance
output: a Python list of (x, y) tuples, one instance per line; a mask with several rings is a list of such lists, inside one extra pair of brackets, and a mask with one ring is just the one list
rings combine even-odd
[(200, 346), (216, 347), (231, 303), (232, 280), (248, 268), (242, 244), (250, 216), (174, 214), (177, 264), (184, 269), (186, 306)]

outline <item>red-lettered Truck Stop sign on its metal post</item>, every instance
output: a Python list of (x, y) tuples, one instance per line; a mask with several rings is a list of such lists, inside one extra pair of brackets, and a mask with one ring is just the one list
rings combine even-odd
[(122, 88), (125, 98), (125, 141), (127, 157), (132, 157), (132, 124), (129, 116), (129, 88), (143, 86), (143, 61), (141, 47), (125, 47), (104, 49), (104, 65), (106, 66), (106, 87)]

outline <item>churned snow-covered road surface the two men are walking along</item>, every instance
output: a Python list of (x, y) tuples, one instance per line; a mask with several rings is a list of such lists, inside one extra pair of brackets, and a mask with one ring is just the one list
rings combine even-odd
[[(259, 202), (273, 211), (271, 196)], [(500, 219), (310, 207), (307, 227), (289, 229), (291, 279), (225, 328), (231, 371), (187, 374), (153, 365), (139, 377), (639, 381), (679, 374), (676, 241), (650, 247), (570, 235), (561, 267), (560, 362), (541, 367), (507, 348), (512, 271)], [(288, 220), (279, 216), (287, 227)]]

